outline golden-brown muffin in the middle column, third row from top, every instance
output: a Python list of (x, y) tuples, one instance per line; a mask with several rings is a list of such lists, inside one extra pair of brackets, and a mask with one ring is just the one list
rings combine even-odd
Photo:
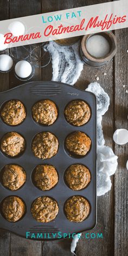
[(41, 190), (49, 190), (58, 182), (58, 175), (52, 165), (38, 165), (34, 171), (34, 183)]

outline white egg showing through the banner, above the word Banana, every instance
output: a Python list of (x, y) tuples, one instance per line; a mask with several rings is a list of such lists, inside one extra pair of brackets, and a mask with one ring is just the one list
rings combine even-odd
[(9, 24), (8, 29), (13, 36), (21, 36), (25, 33), (24, 24), (21, 21), (13, 21)]

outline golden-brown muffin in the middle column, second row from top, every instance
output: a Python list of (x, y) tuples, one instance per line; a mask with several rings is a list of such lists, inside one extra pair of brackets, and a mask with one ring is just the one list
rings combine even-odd
[(48, 159), (56, 155), (59, 142), (51, 132), (38, 133), (32, 142), (35, 157)]

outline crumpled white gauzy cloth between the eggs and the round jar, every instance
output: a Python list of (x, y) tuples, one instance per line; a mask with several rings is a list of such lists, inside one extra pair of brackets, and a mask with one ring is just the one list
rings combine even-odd
[(80, 60), (78, 49), (79, 43), (73, 46), (60, 46), (52, 41), (48, 44), (47, 50), (52, 55), (53, 81), (75, 84), (84, 65)]

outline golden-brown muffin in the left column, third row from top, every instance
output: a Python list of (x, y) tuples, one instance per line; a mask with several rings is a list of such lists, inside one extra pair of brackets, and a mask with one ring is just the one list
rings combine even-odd
[(26, 181), (26, 174), (22, 167), (16, 164), (8, 164), (3, 168), (3, 185), (14, 191), (22, 187)]

